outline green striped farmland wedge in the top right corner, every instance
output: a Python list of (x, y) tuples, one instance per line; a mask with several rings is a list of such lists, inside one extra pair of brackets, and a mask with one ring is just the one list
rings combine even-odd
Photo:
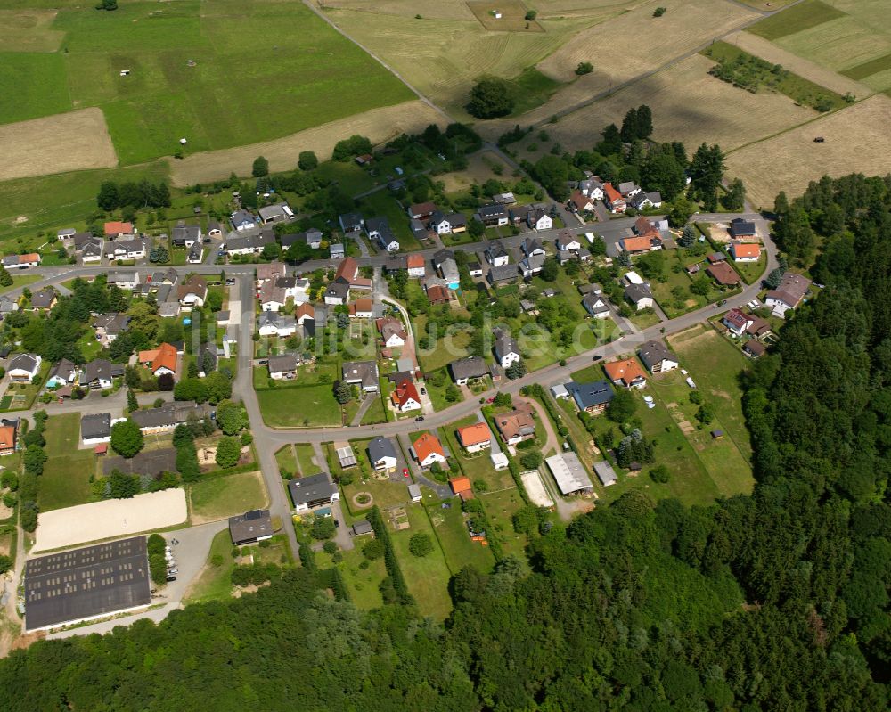
[(891, 91), (891, 19), (883, 0), (806, 0), (748, 31), (874, 91)]

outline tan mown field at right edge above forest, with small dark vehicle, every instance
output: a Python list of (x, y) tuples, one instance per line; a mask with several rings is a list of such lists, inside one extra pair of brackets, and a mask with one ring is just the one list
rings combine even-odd
[[(770, 206), (777, 192), (798, 195), (824, 174), (884, 176), (891, 171), (891, 98), (876, 94), (803, 127), (753, 143), (727, 157), (727, 173), (746, 183), (754, 206)], [(813, 143), (823, 136), (824, 143)]]

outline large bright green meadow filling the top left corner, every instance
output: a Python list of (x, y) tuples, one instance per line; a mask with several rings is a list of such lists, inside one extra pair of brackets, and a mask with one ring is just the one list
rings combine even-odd
[(51, 23), (23, 12), (15, 20), (34, 25), (26, 44), (45, 52), (0, 41), (0, 86), (24, 98), (5, 102), (0, 121), (99, 107), (124, 165), (172, 155), (182, 137), (184, 152), (225, 149), (412, 98), (299, 3), (67, 5)]

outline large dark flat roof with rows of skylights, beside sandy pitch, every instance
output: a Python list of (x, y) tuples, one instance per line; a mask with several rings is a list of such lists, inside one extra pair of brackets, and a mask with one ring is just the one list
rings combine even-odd
[(29, 630), (151, 603), (144, 536), (29, 559), (25, 625)]

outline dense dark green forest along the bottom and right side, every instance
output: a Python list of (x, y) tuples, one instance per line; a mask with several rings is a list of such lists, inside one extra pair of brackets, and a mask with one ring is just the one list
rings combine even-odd
[(463, 570), (445, 626), (405, 596), (357, 611), (306, 558), (159, 626), (15, 651), (0, 708), (887, 709), (891, 178), (781, 207), (825, 287), (745, 378), (752, 495), (625, 495), (535, 536), (528, 575)]

